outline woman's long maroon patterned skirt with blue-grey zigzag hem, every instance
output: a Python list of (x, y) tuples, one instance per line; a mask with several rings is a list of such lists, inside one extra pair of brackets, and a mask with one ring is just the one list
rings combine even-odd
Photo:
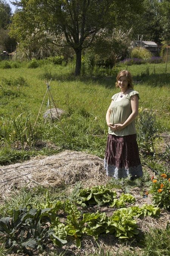
[(104, 169), (115, 179), (143, 175), (136, 134), (116, 136), (108, 134), (104, 158)]

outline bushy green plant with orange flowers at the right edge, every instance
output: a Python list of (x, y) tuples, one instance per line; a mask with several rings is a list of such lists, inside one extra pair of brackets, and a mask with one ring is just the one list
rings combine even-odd
[(161, 174), (156, 179), (152, 179), (151, 193), (155, 205), (170, 210), (170, 175)]

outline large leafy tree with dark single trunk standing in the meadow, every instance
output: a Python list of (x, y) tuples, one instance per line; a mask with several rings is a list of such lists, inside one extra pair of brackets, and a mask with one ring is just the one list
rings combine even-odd
[(131, 27), (143, 0), (20, 0), (11, 35), (24, 42), (29, 35), (41, 34), (76, 53), (75, 74), (81, 70), (82, 49), (93, 43), (105, 28)]

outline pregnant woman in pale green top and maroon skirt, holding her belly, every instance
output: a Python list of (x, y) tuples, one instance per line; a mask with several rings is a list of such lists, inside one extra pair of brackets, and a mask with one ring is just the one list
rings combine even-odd
[(133, 90), (129, 71), (116, 77), (120, 92), (113, 95), (106, 114), (108, 139), (104, 158), (107, 176), (131, 179), (143, 175), (136, 141), (135, 118), (138, 115), (139, 93)]

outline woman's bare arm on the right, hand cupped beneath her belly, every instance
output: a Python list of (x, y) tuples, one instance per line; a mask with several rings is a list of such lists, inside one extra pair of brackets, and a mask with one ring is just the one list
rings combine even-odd
[(136, 94), (130, 97), (130, 103), (131, 103), (132, 113), (130, 114), (128, 119), (123, 124), (117, 123), (114, 125), (116, 126), (118, 131), (124, 129), (127, 125), (129, 125), (138, 115), (139, 98)]

